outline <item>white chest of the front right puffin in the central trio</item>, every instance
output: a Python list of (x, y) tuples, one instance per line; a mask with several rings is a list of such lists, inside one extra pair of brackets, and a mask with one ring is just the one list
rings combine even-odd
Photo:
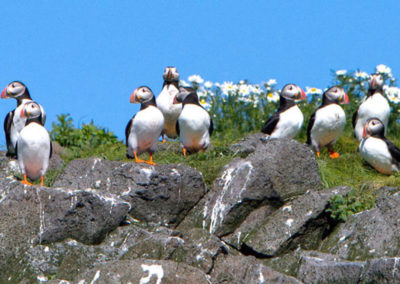
[(187, 104), (179, 116), (180, 141), (186, 148), (207, 147), (210, 143), (209, 135), (210, 115), (203, 108)]

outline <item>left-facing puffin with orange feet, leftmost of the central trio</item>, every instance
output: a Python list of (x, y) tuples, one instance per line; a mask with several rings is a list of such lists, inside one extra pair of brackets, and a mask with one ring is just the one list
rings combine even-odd
[[(136, 163), (155, 165), (153, 153), (157, 149), (158, 138), (164, 127), (164, 116), (157, 108), (153, 92), (147, 86), (136, 88), (130, 98), (131, 103), (140, 103), (140, 110), (129, 120), (125, 128), (127, 157), (135, 159)], [(148, 152), (150, 160), (138, 158), (143, 152)]]

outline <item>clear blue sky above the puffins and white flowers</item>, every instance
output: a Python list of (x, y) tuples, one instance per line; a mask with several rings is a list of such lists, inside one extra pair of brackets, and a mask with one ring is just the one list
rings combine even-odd
[[(327, 87), (332, 69), (378, 64), (399, 76), (400, 2), (7, 1), (0, 25), (0, 88), (23, 81), (45, 108), (123, 139), (138, 110), (131, 92), (158, 95), (165, 66), (213, 82), (270, 78), (278, 87)], [(0, 115), (15, 107), (0, 101)], [(5, 144), (4, 131), (0, 145)]]

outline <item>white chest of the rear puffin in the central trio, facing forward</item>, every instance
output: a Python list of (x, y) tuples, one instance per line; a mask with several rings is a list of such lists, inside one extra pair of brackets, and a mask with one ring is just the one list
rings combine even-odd
[(175, 125), (182, 111), (182, 104), (174, 104), (174, 97), (179, 90), (172, 84), (165, 85), (156, 99), (157, 107), (164, 115), (164, 129), (168, 137), (177, 136)]

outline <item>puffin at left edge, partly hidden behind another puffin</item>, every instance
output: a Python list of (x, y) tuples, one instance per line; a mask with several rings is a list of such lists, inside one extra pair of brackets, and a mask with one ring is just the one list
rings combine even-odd
[[(25, 126), (26, 118), (20, 116), (23, 105), (27, 102), (32, 102), (28, 88), (20, 81), (13, 81), (4, 88), (1, 92), (2, 99), (14, 98), (17, 100), (17, 107), (10, 111), (4, 119), (4, 133), (6, 134), (7, 157), (16, 158), (15, 147), (18, 136), (22, 128)], [(46, 113), (41, 105), (40, 124), (44, 126), (46, 122)]]

